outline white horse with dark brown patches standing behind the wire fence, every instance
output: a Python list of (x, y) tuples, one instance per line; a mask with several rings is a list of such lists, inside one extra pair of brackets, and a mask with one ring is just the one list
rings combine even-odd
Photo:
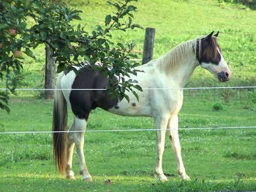
[[(232, 76), (226, 61), (221, 55), (217, 43), (217, 34), (185, 41), (171, 49), (159, 59), (137, 66), (137, 76), (130, 76), (138, 81), (143, 91), (138, 91), (139, 100), (130, 92), (130, 102), (118, 97), (110, 97), (104, 90), (109, 86), (109, 79), (102, 72), (92, 68), (80, 67), (73, 71), (59, 74), (55, 97), (53, 99), (53, 156), (56, 168), (64, 177), (72, 179), (73, 149), (76, 145), (82, 180), (92, 181), (84, 156), (84, 131), (90, 111), (96, 107), (113, 114), (125, 116), (148, 116), (154, 118), (156, 127), (156, 160), (154, 176), (159, 181), (166, 181), (162, 169), (164, 139), (166, 131), (176, 157), (177, 174), (183, 180), (190, 180), (181, 158), (178, 135), (178, 112), (183, 104), (183, 88), (197, 66), (207, 69), (220, 82), (226, 82)], [(171, 87), (173, 89), (163, 89)], [(80, 90), (76, 90), (80, 89)], [(89, 89), (89, 90), (81, 90)], [(98, 89), (98, 90), (95, 90)], [(67, 106), (73, 112), (73, 122), (67, 131)], [(77, 132), (76, 132), (77, 131)]]

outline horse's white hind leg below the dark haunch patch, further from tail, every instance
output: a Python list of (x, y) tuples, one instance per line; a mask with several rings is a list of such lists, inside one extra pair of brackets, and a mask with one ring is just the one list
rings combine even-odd
[(87, 166), (85, 164), (84, 157), (84, 131), (86, 128), (86, 120), (74, 118), (75, 130), (81, 132), (73, 132), (73, 137), (76, 144), (77, 156), (79, 158), (80, 174), (82, 175), (82, 180), (92, 181), (92, 176), (90, 176)]

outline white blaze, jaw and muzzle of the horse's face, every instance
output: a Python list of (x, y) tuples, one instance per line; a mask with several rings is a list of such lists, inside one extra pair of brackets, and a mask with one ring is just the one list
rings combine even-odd
[(218, 62), (218, 64), (213, 64), (211, 62), (209, 63), (201, 62), (201, 67), (204, 69), (207, 69), (210, 73), (214, 74), (214, 76), (218, 78), (219, 81), (221, 82), (229, 81), (232, 73), (218, 48), (217, 48), (217, 51), (218, 51), (218, 55), (220, 55), (220, 61)]

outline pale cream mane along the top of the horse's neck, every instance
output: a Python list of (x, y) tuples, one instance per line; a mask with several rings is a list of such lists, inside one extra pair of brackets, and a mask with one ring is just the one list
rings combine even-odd
[[(198, 39), (198, 38), (197, 38)], [(163, 72), (171, 72), (181, 64), (182, 61), (188, 60), (188, 57), (196, 51), (197, 39), (185, 41), (171, 49), (166, 55), (159, 57), (157, 60), (160, 65), (160, 69)]]

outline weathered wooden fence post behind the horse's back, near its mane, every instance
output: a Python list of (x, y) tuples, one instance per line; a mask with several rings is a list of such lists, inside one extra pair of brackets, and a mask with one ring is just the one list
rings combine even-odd
[(146, 28), (142, 64), (146, 64), (153, 59), (154, 40), (155, 28)]

